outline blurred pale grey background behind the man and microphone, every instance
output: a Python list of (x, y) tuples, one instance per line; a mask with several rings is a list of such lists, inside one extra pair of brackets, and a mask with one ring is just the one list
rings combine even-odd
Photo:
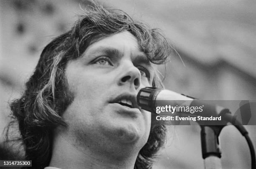
[[(165, 67), (167, 89), (205, 100), (256, 100), (255, 0), (98, 0), (160, 28), (179, 53)], [(67, 31), (81, 0), (0, 0), (0, 142), (8, 102), (18, 98), (44, 46)], [(182, 63), (182, 61), (184, 63)], [(255, 113), (255, 110), (254, 110)], [(256, 126), (246, 126), (256, 143)], [(154, 169), (203, 168), (200, 126), (170, 126)], [(250, 168), (245, 139), (220, 134), (223, 169)]]

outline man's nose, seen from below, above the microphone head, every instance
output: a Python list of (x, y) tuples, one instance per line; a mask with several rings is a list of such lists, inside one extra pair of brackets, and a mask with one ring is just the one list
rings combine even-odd
[(141, 73), (135, 66), (123, 67), (123, 72), (120, 74), (118, 85), (129, 85), (137, 90), (141, 86)]

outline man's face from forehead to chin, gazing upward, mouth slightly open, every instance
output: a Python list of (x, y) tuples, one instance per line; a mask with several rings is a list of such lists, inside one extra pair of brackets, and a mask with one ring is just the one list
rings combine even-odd
[(138, 91), (151, 86), (153, 68), (136, 38), (124, 31), (92, 43), (67, 64), (74, 101), (64, 113), (68, 133), (84, 145), (108, 147), (146, 143), (151, 114), (136, 103)]

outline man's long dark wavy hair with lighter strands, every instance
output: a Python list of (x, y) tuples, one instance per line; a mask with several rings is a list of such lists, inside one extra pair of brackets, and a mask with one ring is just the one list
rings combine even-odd
[[(97, 3), (93, 5), (84, 11), (71, 30), (44, 48), (33, 75), (26, 83), (26, 91), (10, 104), (12, 116), (18, 121), (24, 159), (32, 160), (33, 168), (43, 169), (49, 165), (53, 131), (58, 126), (67, 126), (62, 114), (73, 100), (65, 77), (69, 60), (79, 58), (93, 41), (125, 30), (136, 37), (140, 50), (151, 63), (165, 63), (171, 55), (168, 40), (160, 30), (133, 20), (121, 10), (105, 9)], [(161, 86), (157, 72), (153, 86)], [(151, 124), (148, 141), (139, 151), (135, 169), (152, 167), (165, 137), (164, 125)]]

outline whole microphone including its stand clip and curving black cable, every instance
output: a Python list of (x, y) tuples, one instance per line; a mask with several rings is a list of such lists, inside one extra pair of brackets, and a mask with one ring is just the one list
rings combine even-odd
[[(251, 154), (251, 168), (256, 169), (256, 155), (255, 150), (252, 144), (250, 137), (248, 136), (248, 131), (243, 127), (243, 125), (236, 120), (234, 116), (231, 115), (230, 111), (227, 108), (223, 108), (222, 106), (218, 106), (209, 101), (202, 101), (196, 98), (186, 96), (183, 94), (176, 93), (174, 91), (169, 91), (161, 88), (152, 88), (146, 87), (142, 88), (137, 95), (137, 103), (142, 109), (146, 111), (150, 111), (152, 115), (158, 114), (157, 110), (160, 107), (163, 108), (163, 111), (166, 111), (170, 106), (178, 107), (200, 107), (203, 106), (204, 111), (200, 116), (203, 117), (221, 117), (218, 122), (209, 122), (209, 121), (197, 121), (197, 123), (201, 126), (201, 144), (202, 144), (202, 157), (206, 159), (209, 156), (217, 156), (220, 158), (220, 149), (219, 149), (219, 141), (218, 136), (220, 135), (220, 131), (224, 126), (227, 125), (228, 122), (233, 124), (240, 133), (245, 137)], [(163, 105), (166, 104), (166, 107)], [(169, 104), (169, 106), (167, 105)], [(160, 114), (159, 113), (159, 114)], [(172, 112), (173, 113), (173, 112)], [(179, 114), (179, 116), (187, 116), (188, 114)], [(193, 116), (194, 114), (190, 114)], [(194, 115), (195, 116), (195, 115)], [(199, 115), (197, 115), (199, 116)], [(152, 117), (152, 116), (151, 116)]]

